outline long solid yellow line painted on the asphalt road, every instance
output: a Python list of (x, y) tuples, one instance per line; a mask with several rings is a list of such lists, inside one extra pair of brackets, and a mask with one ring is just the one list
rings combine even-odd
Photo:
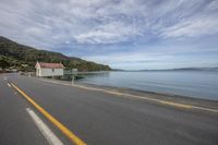
[(22, 89), (20, 89), (16, 85), (11, 83), (12, 86), (21, 94), (23, 97), (28, 100), (39, 112), (41, 112), (50, 122), (52, 122), (65, 136), (68, 136), (73, 143), (76, 145), (86, 145), (81, 138), (78, 138), (73, 132), (71, 132), (66, 126), (64, 126), (61, 122), (55, 119), (49, 112), (47, 112), (43, 107), (36, 104), (28, 95), (26, 95)]

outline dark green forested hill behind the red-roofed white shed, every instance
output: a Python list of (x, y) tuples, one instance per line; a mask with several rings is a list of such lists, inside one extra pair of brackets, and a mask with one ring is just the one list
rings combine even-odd
[[(80, 58), (68, 57), (60, 52), (38, 50), (0, 36), (0, 60), (22, 71), (34, 71), (36, 61), (62, 62), (66, 68), (78, 71), (109, 71), (109, 65), (98, 64)], [(0, 63), (1, 64), (1, 63)], [(27, 64), (27, 65), (26, 65)]]

